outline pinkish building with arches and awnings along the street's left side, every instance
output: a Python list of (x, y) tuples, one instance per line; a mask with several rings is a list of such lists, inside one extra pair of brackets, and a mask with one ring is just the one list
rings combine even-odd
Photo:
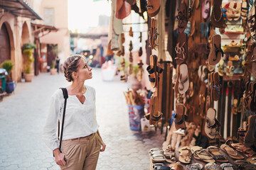
[(21, 81), (23, 55), (21, 47), (36, 44), (33, 74), (46, 71), (56, 56), (60, 62), (70, 55), (68, 0), (0, 0), (0, 64), (14, 63), (11, 78)]

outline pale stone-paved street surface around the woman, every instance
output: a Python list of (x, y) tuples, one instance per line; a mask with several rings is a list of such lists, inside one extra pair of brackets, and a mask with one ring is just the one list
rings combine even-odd
[[(93, 69), (85, 84), (96, 89), (97, 121), (107, 147), (100, 153), (97, 169), (149, 169), (149, 149), (161, 147), (160, 130), (129, 129), (128, 108), (123, 91), (127, 84), (102, 81), (101, 70)], [(63, 74), (41, 73), (31, 83), (17, 84), (15, 94), (0, 102), (0, 169), (60, 169), (41, 140), (50, 96), (69, 83)]]

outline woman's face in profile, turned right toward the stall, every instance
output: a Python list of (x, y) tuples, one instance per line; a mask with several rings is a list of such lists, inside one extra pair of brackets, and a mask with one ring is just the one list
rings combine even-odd
[(80, 58), (80, 63), (78, 64), (78, 80), (85, 81), (87, 79), (92, 79), (92, 67), (88, 66), (85, 59)]

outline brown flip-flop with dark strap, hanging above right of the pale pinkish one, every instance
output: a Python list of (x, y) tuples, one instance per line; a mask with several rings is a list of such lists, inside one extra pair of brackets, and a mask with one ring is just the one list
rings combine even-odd
[(220, 35), (213, 35), (211, 39), (211, 49), (208, 57), (208, 63), (210, 65), (215, 65), (220, 62), (223, 56), (223, 50), (221, 49), (221, 37)]

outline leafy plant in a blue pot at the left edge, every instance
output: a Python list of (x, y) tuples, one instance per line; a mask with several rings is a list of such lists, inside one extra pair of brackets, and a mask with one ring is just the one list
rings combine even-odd
[(14, 84), (16, 84), (16, 82), (11, 79), (11, 70), (14, 68), (14, 63), (11, 62), (11, 60), (5, 60), (1, 64), (1, 67), (6, 69), (8, 73), (8, 76), (6, 76), (6, 93), (11, 94), (11, 92), (14, 91)]

